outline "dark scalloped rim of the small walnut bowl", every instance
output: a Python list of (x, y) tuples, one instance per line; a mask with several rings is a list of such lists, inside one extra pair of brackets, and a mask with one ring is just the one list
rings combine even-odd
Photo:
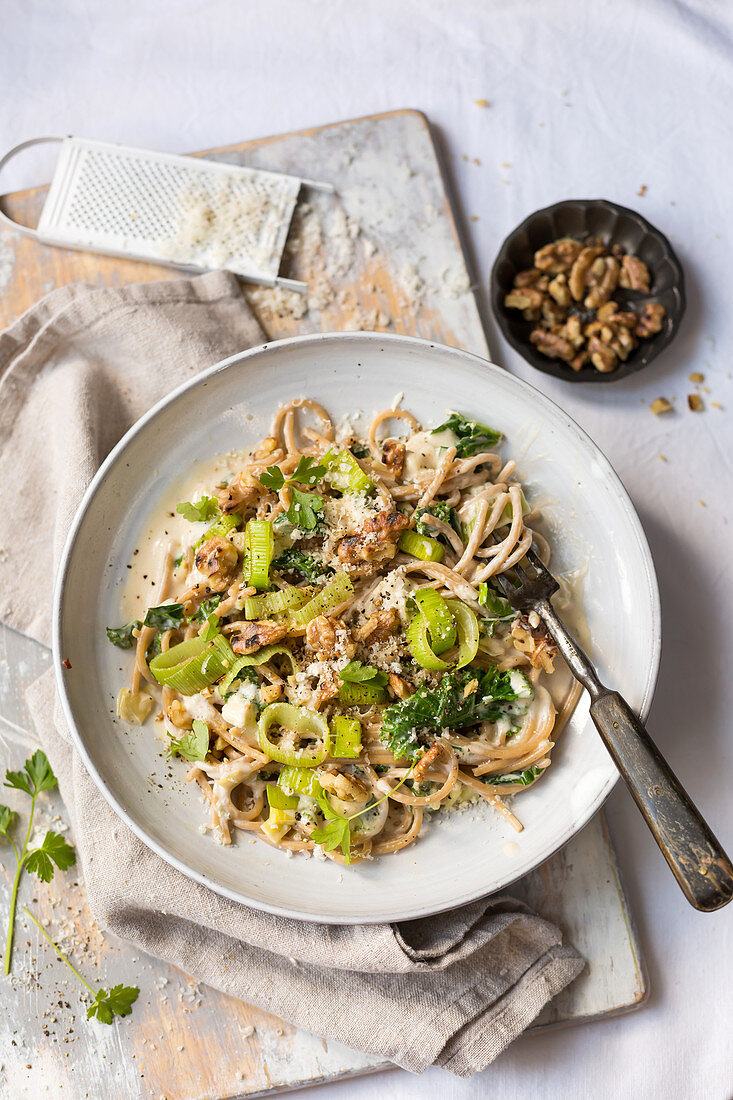
[[(636, 365), (634, 365), (634, 362), (632, 361), (632, 365), (627, 370), (624, 370), (626, 364), (622, 364), (616, 371), (611, 371), (609, 373), (603, 373), (602, 371), (594, 371), (592, 373), (591, 372), (583, 373), (582, 371), (580, 371), (576, 373), (569, 366), (566, 371), (564, 366), (560, 365), (561, 361), (559, 360), (556, 361), (554, 359), (549, 359), (548, 356), (545, 356), (546, 362), (541, 359), (538, 359), (538, 361), (535, 362), (527, 355), (527, 352), (530, 350), (527, 342), (521, 340), (518, 337), (515, 337), (514, 333), (512, 332), (510, 328), (510, 318), (506, 316), (506, 312), (504, 311), (503, 304), (499, 301), (499, 277), (497, 277), (499, 265), (508, 258), (506, 252), (508, 245), (512, 243), (514, 238), (517, 237), (519, 233), (525, 232), (527, 227), (535, 220), (535, 218), (540, 218), (543, 216), (549, 217), (554, 215), (556, 211), (562, 209), (564, 207), (575, 206), (575, 205), (583, 206), (586, 208), (603, 207), (606, 210), (612, 211), (613, 213), (626, 215), (633, 218), (634, 220), (636, 220), (642, 224), (642, 227), (646, 230), (647, 233), (649, 233), (653, 237), (656, 237), (660, 241), (666, 253), (666, 258), (675, 270), (676, 277), (671, 290), (677, 299), (677, 308), (671, 318), (671, 324), (669, 326), (667, 332), (665, 333), (665, 339), (656, 344), (649, 341), (647, 344), (650, 352), (648, 354), (648, 358), (644, 359), (644, 356), (641, 356)], [(496, 257), (491, 266), (491, 275), (489, 283), (490, 283), (490, 299), (491, 299), (492, 312), (496, 320), (499, 329), (504, 339), (506, 340), (506, 342), (514, 349), (514, 351), (516, 351), (522, 356), (525, 363), (527, 363), (530, 367), (533, 367), (533, 370), (539, 371), (541, 374), (547, 374), (550, 378), (558, 378), (560, 382), (570, 382), (576, 384), (623, 382), (624, 378), (628, 378), (631, 377), (632, 374), (637, 374), (639, 371), (643, 371), (645, 367), (649, 366), (657, 358), (657, 355), (659, 355), (665, 350), (665, 348), (668, 348), (671, 341), (677, 336), (682, 318), (685, 317), (685, 311), (687, 309), (687, 295), (685, 293), (685, 271), (669, 238), (665, 233), (663, 233), (660, 229), (657, 229), (656, 226), (653, 226), (652, 222), (647, 218), (645, 218), (643, 213), (638, 212), (638, 210), (633, 210), (631, 207), (623, 206), (621, 202), (614, 202), (612, 199), (560, 199), (558, 202), (553, 202), (550, 206), (540, 207), (537, 210), (533, 210), (532, 213), (528, 213), (527, 217), (524, 218), (524, 220), (521, 221), (518, 226), (515, 226), (514, 229), (511, 230), (502, 241), (499, 248), (499, 252), (496, 253)], [(650, 295), (650, 297), (654, 297), (654, 295)], [(539, 355), (539, 353), (537, 354)]]

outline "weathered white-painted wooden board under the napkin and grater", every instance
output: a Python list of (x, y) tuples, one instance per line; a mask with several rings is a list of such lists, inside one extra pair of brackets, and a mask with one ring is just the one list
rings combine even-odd
[[(208, 155), (329, 180), (338, 189), (337, 197), (309, 195), (291, 234), (284, 273), (308, 282), (307, 298), (247, 292), (271, 339), (383, 329), (488, 354), (423, 116), (397, 111)], [(10, 196), (3, 206), (35, 224), (44, 194), (37, 188)], [(109, 286), (174, 274), (47, 249), (0, 228), (0, 324), (66, 283)], [(0, 628), (3, 768), (18, 767), (32, 748), (23, 690), (47, 664), (46, 650)], [(14, 792), (7, 793), (6, 801), (23, 812), (21, 796), (13, 802)], [(65, 817), (61, 800), (44, 796), (42, 822), (55, 815)], [(10, 861), (3, 862), (0, 892), (7, 903)], [(600, 815), (513, 892), (559, 924), (589, 963), (536, 1026), (625, 1011), (643, 1001), (644, 966)], [(39, 943), (35, 930), (20, 927), (14, 976), (0, 982), (0, 1090), (11, 1089), (17, 1098), (35, 1100), (63, 1090), (108, 1100), (219, 1100), (342, 1079), (384, 1065), (199, 987), (179, 970), (103, 937), (75, 873), (58, 876), (47, 887), (28, 882), (21, 900), (33, 900), (52, 935), (94, 982), (136, 983), (141, 996), (129, 1020), (112, 1027), (87, 1024), (75, 979)]]

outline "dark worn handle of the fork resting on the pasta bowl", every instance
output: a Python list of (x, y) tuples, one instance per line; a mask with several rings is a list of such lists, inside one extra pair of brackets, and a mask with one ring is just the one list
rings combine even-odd
[(592, 693), (590, 713), (605, 747), (691, 905), (710, 913), (733, 899), (733, 866), (628, 703)]

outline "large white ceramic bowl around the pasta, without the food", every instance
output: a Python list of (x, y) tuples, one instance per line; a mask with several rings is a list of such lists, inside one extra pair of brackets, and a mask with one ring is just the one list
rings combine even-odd
[(125, 564), (165, 487), (195, 462), (262, 438), (273, 410), (294, 396), (314, 397), (338, 419), (355, 408), (369, 416), (398, 391), (425, 425), (438, 424), (450, 407), (505, 433), (505, 452), (518, 459), (530, 498), (545, 505), (555, 568), (586, 570), (583, 601), (601, 676), (645, 716), (659, 663), (659, 601), (648, 546), (613, 469), (532, 386), (474, 355), (407, 337), (283, 340), (186, 383), (139, 420), (101, 466), (69, 534), (56, 587), (59, 691), (76, 748), (105, 798), (184, 875), (236, 901), (307, 921), (408, 920), (500, 890), (582, 828), (617, 778), (583, 697), (547, 777), (515, 802), (523, 833), (507, 832), (489, 807), (440, 814), (413, 847), (344, 869), (287, 858), (248, 837), (218, 846), (199, 832), (206, 811), (195, 784), (183, 782), (186, 766), (176, 762), (174, 780), (163, 778), (164, 747), (152, 723), (130, 732), (112, 717), (128, 654), (121, 659), (103, 628), (119, 619)]

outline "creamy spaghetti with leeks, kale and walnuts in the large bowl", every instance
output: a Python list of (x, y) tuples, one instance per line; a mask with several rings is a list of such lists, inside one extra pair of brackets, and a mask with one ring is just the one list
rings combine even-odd
[(107, 628), (134, 650), (118, 714), (155, 715), (221, 844), (355, 864), (477, 800), (522, 828), (506, 799), (550, 766), (579, 688), (493, 583), (533, 540), (549, 558), (501, 442), (402, 408), (337, 431), (299, 398), (153, 525), (158, 575), (135, 550), (135, 617)]

